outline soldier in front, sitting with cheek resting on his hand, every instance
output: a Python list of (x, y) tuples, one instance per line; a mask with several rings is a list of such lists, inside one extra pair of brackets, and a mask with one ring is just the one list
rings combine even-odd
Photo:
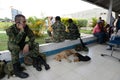
[[(20, 51), (22, 51), (23, 54), (29, 52), (30, 57), (33, 59), (33, 67), (40, 71), (39, 57), (41, 58), (42, 56), (45, 60), (45, 55), (39, 53), (39, 44), (35, 42), (35, 36), (32, 30), (26, 25), (25, 16), (21, 14), (16, 15), (15, 24), (6, 29), (6, 33), (9, 39), (8, 49), (11, 52), (14, 74), (20, 78), (27, 78), (29, 76), (20, 70)], [(26, 37), (28, 37), (28, 41), (26, 41)], [(49, 68), (49, 65), (46, 64), (45, 69), (48, 70)]]

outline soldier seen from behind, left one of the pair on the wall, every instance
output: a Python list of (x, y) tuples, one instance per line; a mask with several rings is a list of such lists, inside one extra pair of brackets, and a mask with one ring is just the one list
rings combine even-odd
[(46, 39), (46, 42), (63, 42), (65, 40), (65, 25), (61, 22), (59, 16), (55, 17), (55, 23), (51, 25), (51, 28), (47, 31), (50, 39)]

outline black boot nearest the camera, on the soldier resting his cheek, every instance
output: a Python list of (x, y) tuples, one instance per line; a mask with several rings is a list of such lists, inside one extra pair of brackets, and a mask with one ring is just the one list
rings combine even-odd
[(18, 63), (15, 63), (13, 64), (13, 69), (14, 69), (14, 74), (17, 76), (17, 77), (20, 77), (20, 78), (27, 78), (29, 75), (25, 72), (22, 72), (20, 71), (20, 66), (19, 66), (19, 62)]

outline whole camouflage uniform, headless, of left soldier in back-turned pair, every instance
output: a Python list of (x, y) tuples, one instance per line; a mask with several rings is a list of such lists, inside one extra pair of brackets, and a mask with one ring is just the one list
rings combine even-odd
[(60, 21), (55, 22), (52, 26), (53, 42), (62, 42), (65, 40), (65, 26)]

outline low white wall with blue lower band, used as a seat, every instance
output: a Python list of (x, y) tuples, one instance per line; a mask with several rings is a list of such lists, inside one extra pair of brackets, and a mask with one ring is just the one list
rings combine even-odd
[[(90, 35), (89, 37), (83, 37), (82, 38), (85, 45), (95, 43), (97, 41), (96, 37), (93, 35)], [(39, 45), (39, 51), (42, 53), (45, 53), (47, 56), (56, 54), (60, 51), (66, 50), (66, 49), (73, 49), (75, 45), (80, 44), (80, 39), (77, 40), (65, 40), (64, 42), (60, 43), (46, 43), (46, 44), (40, 44)], [(20, 54), (20, 58), (24, 57), (24, 55)], [(0, 51), (0, 60), (11, 60), (11, 55), (9, 50)]]

